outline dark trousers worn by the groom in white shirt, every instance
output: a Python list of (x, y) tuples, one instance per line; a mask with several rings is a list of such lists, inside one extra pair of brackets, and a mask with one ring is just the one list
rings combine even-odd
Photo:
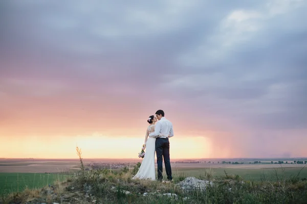
[(162, 181), (163, 179), (162, 162), (164, 159), (167, 179), (171, 181), (172, 176), (171, 176), (171, 167), (170, 167), (170, 159), (169, 159), (169, 140), (168, 138), (157, 138), (156, 139), (156, 153), (157, 153), (157, 164), (158, 164), (158, 180)]

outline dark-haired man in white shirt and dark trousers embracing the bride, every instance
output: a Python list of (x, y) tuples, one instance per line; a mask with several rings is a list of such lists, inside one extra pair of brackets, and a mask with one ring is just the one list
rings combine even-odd
[[(172, 180), (171, 167), (169, 160), (169, 137), (174, 136), (172, 123), (164, 117), (164, 111), (158, 110), (156, 112), (158, 122), (156, 123), (155, 132), (150, 133), (149, 137), (156, 137), (156, 152), (157, 152), (157, 163), (158, 163), (158, 180), (163, 179), (163, 168), (162, 162), (164, 158), (165, 170), (167, 179)], [(163, 158), (162, 158), (163, 156)]]

